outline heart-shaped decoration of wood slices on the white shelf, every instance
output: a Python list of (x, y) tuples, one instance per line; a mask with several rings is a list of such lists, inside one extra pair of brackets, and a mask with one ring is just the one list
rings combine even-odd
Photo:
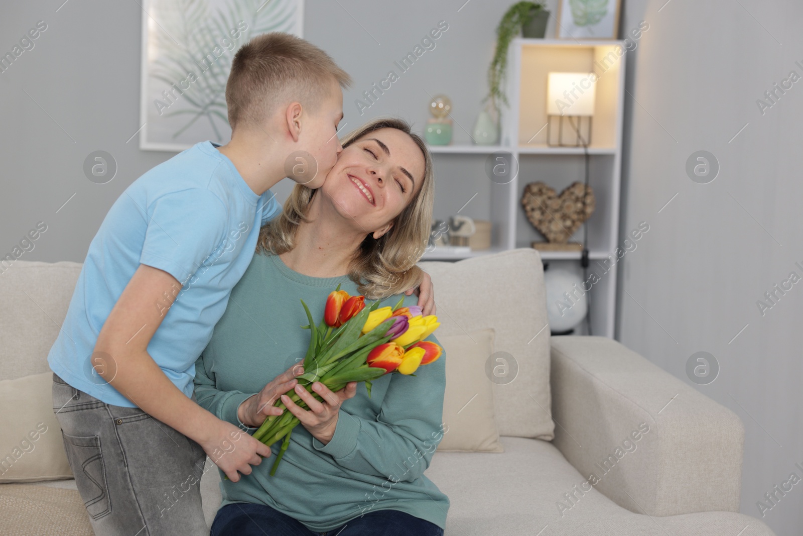
[(591, 217), (595, 203), (591, 186), (586, 188), (582, 182), (574, 182), (560, 195), (543, 182), (530, 182), (521, 197), (527, 219), (550, 243), (567, 243), (574, 231)]

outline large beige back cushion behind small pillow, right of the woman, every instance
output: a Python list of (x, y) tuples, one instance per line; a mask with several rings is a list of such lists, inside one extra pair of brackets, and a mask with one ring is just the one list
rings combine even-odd
[(495, 329), (495, 354), (486, 370), (494, 378), (499, 434), (552, 440), (549, 327), (538, 252), (520, 248), (419, 266), (434, 283), (438, 338)]

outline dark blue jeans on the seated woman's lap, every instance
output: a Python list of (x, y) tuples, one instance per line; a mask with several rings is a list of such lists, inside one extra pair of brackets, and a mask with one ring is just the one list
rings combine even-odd
[(218, 510), (211, 536), (443, 536), (443, 530), (399, 510), (373, 510), (327, 532), (309, 530), (301, 522), (267, 505), (237, 502)]

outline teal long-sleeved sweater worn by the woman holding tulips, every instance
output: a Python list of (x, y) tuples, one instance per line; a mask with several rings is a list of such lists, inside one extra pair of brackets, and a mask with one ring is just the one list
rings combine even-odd
[[(337, 284), (359, 294), (346, 276), (304, 276), (278, 256), (257, 253), (195, 363), (198, 403), (243, 428), (240, 403), (306, 354), (310, 332), (301, 329), (308, 321), (300, 299), (317, 323)], [(400, 297), (381, 306), (392, 307)], [(414, 295), (404, 301), (417, 302)], [(427, 340), (437, 342), (432, 335)], [(340, 406), (328, 444), (299, 424), (275, 475), (269, 473), (281, 442), (251, 475), (221, 482), (222, 505), (269, 505), (319, 532), (378, 509), (401, 510), (445, 528), (449, 499), (424, 476), (442, 438), (445, 387), (446, 354), (420, 366), (415, 376), (374, 380), (370, 398), (365, 384), (357, 384), (357, 395)]]

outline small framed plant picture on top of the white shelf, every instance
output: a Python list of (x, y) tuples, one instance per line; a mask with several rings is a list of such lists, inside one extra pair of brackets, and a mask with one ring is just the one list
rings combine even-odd
[(559, 39), (616, 39), (622, 0), (558, 0)]

